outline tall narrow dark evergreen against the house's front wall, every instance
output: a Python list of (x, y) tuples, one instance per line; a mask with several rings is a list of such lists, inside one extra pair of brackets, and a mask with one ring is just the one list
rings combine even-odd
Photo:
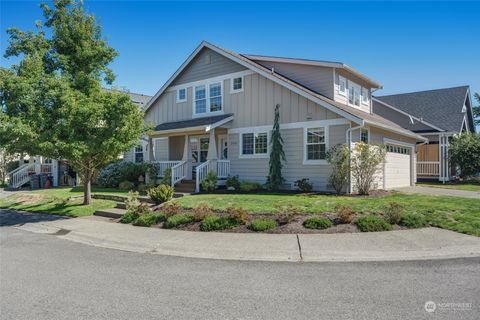
[(282, 161), (286, 161), (283, 151), (283, 139), (280, 135), (280, 106), (275, 107), (275, 118), (273, 121), (272, 139), (270, 142), (271, 153), (267, 177), (267, 187), (271, 190), (278, 190), (282, 186)]

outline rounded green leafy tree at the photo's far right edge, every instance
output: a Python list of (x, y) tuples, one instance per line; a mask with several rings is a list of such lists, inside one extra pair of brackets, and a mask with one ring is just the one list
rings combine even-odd
[(480, 172), (480, 134), (462, 133), (455, 135), (450, 141), (450, 161), (460, 167), (460, 176), (468, 176)]

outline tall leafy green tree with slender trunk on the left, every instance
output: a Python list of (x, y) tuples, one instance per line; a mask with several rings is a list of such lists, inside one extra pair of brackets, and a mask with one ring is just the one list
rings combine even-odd
[[(82, 1), (42, 4), (36, 32), (8, 29), (5, 57), (21, 60), (0, 70), (0, 145), (10, 153), (67, 159), (81, 174), (84, 204), (99, 169), (132, 148), (145, 132), (143, 114), (112, 84), (108, 65), (117, 52)], [(51, 36), (47, 38), (44, 28)]]

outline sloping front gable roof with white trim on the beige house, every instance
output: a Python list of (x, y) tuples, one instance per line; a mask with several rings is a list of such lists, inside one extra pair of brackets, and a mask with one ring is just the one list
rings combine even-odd
[(253, 70), (260, 74), (261, 76), (282, 85), (283, 87), (297, 93), (300, 96), (303, 96), (320, 106), (337, 113), (338, 115), (353, 121), (357, 124), (364, 125), (369, 124), (372, 126), (378, 126), (384, 128), (385, 130), (394, 131), (401, 133), (406, 136), (410, 136), (419, 140), (426, 140), (424, 137), (413, 133), (410, 130), (402, 128), (400, 125), (389, 121), (379, 115), (366, 113), (364, 111), (356, 110), (352, 107), (344, 105), (342, 103), (336, 102), (330, 98), (327, 98), (288, 77), (274, 72), (271, 69), (268, 69), (261, 64), (249, 59), (246, 56), (238, 54), (236, 52), (220, 48), (216, 45), (203, 41), (192, 54), (185, 60), (185, 62), (175, 71), (175, 73), (167, 80), (167, 82), (160, 88), (160, 90), (148, 101), (145, 106), (145, 112), (147, 112), (150, 107), (155, 103), (155, 101), (162, 95), (162, 93), (170, 86), (170, 84), (175, 80), (175, 78), (188, 66), (188, 64), (193, 60), (193, 58), (203, 49), (209, 48), (219, 54), (226, 56), (227, 58), (233, 60), (234, 62), (239, 63), (240, 65), (245, 66), (246, 68)]

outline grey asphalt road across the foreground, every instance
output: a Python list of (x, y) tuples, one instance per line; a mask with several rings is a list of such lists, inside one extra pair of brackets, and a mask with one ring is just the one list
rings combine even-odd
[(235, 262), (0, 232), (1, 319), (480, 318), (480, 259)]

